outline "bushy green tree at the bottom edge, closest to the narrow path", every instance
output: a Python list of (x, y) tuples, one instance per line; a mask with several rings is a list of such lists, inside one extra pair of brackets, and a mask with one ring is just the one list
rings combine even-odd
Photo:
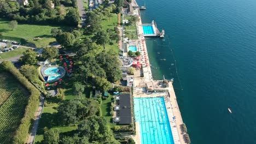
[(60, 140), (60, 131), (58, 129), (48, 129), (44, 130), (44, 143), (45, 144), (58, 144)]

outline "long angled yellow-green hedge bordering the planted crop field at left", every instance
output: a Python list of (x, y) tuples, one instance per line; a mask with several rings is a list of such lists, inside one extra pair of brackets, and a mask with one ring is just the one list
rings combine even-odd
[(14, 67), (13, 63), (9, 61), (3, 61), (0, 65), (0, 68), (13, 74), (16, 79), (19, 80), (21, 85), (26, 87), (31, 94), (30, 98), (28, 99), (24, 117), (21, 119), (19, 128), (15, 131), (13, 138), (13, 143), (26, 143), (28, 130), (31, 125), (31, 119), (34, 118), (34, 112), (36, 112), (39, 104), (40, 92), (26, 79), (25, 76), (20, 73), (18, 69)]

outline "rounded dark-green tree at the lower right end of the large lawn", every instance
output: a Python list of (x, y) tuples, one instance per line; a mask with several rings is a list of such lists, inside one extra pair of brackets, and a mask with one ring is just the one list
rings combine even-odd
[(75, 37), (72, 33), (64, 32), (61, 33), (59, 37), (56, 37), (56, 40), (58, 41), (58, 43), (60, 43), (62, 46), (68, 49), (73, 45)]

